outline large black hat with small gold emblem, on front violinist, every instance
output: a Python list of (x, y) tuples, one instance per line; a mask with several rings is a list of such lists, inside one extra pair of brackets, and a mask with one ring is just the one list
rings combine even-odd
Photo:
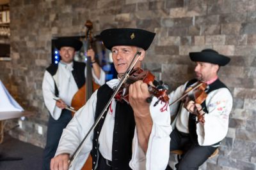
[(138, 46), (147, 50), (155, 35), (154, 32), (133, 28), (105, 29), (100, 33), (104, 46), (109, 50), (116, 45)]

